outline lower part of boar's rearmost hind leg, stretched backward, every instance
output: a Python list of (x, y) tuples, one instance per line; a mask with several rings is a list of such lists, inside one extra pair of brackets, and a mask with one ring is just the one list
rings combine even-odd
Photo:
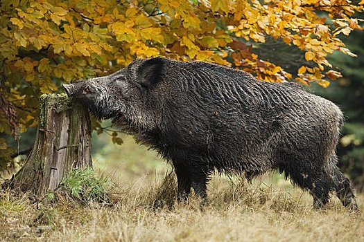
[(336, 195), (340, 199), (341, 203), (349, 210), (358, 211), (358, 205), (356, 204), (355, 196), (353, 194), (353, 189), (350, 186), (350, 181), (344, 176), (343, 173), (334, 167), (334, 189), (336, 190)]

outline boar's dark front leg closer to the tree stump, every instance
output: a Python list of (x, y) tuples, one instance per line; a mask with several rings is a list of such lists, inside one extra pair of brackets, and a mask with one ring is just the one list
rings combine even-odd
[(189, 174), (189, 168), (182, 163), (173, 162), (175, 167), (175, 174), (177, 175), (178, 185), (178, 201), (187, 201), (191, 192), (191, 178)]

